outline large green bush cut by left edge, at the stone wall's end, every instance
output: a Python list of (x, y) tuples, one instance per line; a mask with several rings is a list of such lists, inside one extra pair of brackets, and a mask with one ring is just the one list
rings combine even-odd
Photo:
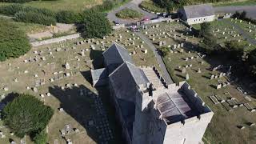
[(30, 50), (26, 34), (10, 22), (0, 18), (0, 61), (18, 58)]

